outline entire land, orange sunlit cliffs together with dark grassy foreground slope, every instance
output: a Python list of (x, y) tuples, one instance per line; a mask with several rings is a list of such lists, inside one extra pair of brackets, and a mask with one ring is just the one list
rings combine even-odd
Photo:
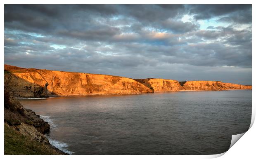
[(251, 86), (220, 81), (130, 79), (5, 65), (5, 154), (66, 154), (50, 145), (43, 135), (50, 131), (50, 125), (33, 110), (24, 108), (19, 98), (237, 89)]

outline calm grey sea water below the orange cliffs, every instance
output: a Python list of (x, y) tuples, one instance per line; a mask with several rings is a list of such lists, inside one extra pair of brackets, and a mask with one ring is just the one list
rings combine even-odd
[(251, 123), (251, 90), (19, 101), (69, 154), (219, 154)]

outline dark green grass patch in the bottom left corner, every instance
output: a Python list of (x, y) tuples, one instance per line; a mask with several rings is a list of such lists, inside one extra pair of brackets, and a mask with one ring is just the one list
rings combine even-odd
[(59, 154), (43, 143), (26, 137), (5, 123), (5, 154)]

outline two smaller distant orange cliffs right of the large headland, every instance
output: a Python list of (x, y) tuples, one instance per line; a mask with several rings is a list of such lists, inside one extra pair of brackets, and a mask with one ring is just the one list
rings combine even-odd
[(183, 81), (172, 79), (135, 79), (150, 89), (157, 91), (224, 91), (232, 89), (251, 89), (251, 86), (224, 83), (221, 81)]

